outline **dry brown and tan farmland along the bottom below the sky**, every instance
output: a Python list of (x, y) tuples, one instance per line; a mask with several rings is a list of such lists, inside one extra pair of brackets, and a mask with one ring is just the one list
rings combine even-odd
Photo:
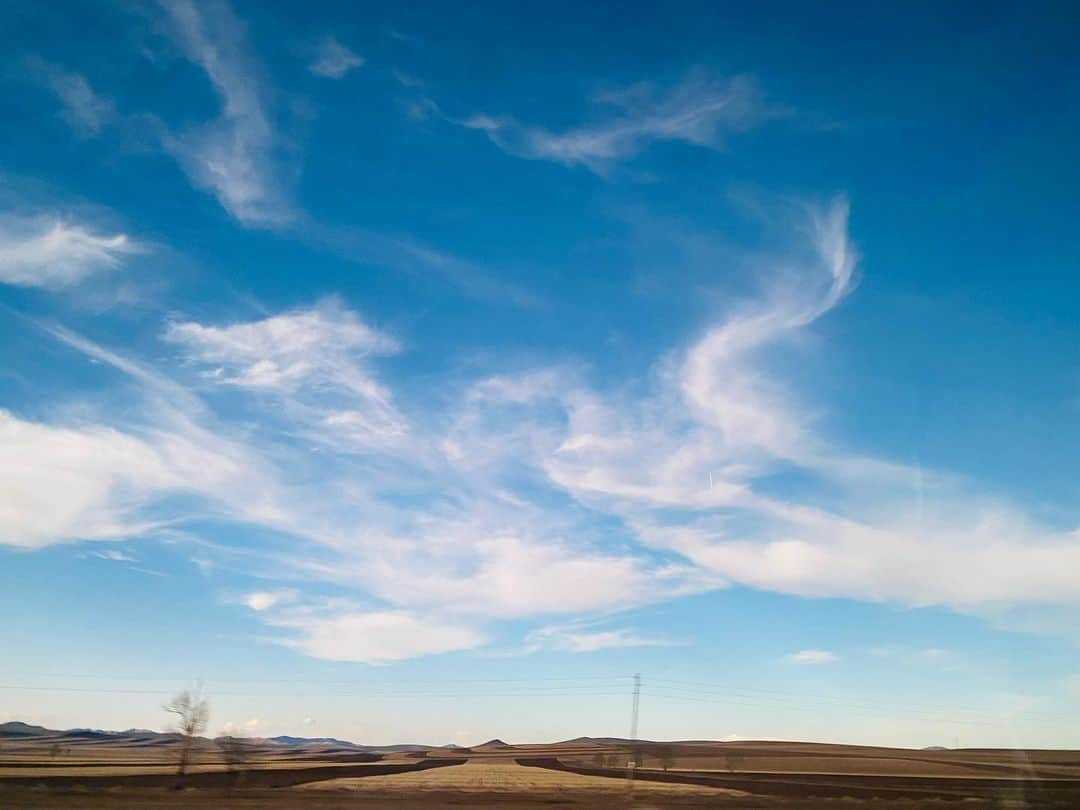
[(1080, 808), (1070, 751), (639, 743), (631, 788), (623, 741), (379, 753), (251, 741), (235, 772), (201, 741), (176, 789), (174, 748), (160, 734), (0, 739), (0, 808)]

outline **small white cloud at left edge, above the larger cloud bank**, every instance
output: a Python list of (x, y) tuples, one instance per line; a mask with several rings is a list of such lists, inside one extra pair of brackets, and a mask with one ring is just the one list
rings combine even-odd
[(126, 233), (95, 233), (59, 217), (0, 217), (0, 283), (45, 288), (114, 270), (141, 251)]

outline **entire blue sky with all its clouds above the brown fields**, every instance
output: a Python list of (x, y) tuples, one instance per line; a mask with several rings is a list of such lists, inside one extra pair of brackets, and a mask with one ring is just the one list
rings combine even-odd
[(1075, 12), (3, 14), (0, 714), (1075, 744)]

